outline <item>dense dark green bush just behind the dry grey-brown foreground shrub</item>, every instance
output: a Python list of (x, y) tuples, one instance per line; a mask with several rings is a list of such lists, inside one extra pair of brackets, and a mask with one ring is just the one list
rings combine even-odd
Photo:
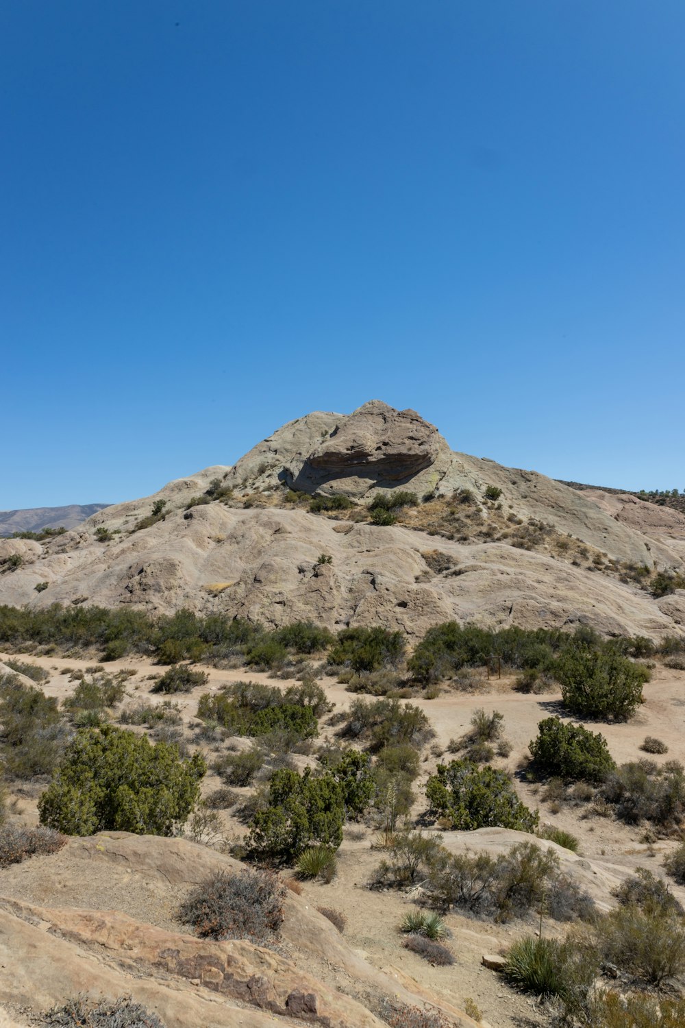
[(344, 790), (326, 772), (314, 777), (283, 768), (269, 782), (268, 797), (255, 812), (249, 852), (262, 859), (287, 862), (310, 846), (337, 849), (345, 820)]

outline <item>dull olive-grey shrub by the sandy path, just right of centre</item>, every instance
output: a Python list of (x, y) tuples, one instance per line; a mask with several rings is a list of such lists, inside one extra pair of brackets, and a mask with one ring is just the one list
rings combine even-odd
[(387, 746), (421, 746), (434, 732), (419, 706), (401, 703), (396, 699), (370, 702), (359, 699), (350, 703), (342, 734), (353, 739), (368, 740), (369, 747), (377, 752)]

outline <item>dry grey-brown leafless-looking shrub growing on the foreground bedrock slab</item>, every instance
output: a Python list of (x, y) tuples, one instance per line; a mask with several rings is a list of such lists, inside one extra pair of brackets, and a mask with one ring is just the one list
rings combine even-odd
[(270, 872), (217, 871), (186, 897), (179, 917), (202, 939), (248, 939), (265, 945), (278, 937), (284, 897), (282, 882)]

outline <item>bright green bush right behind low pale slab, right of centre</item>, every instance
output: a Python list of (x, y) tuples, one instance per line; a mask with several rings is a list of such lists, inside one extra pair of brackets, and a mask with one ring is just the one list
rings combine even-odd
[(538, 815), (518, 798), (510, 778), (492, 767), (479, 768), (470, 761), (439, 764), (426, 783), (433, 814), (462, 831), (500, 827), (534, 832)]

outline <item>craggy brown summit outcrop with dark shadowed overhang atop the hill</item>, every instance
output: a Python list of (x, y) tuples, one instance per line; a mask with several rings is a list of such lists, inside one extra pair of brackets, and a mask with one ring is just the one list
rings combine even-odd
[(415, 410), (372, 400), (346, 417), (304, 461), (298, 488), (364, 492), (370, 483), (396, 485), (429, 468), (441, 450), (437, 429)]

